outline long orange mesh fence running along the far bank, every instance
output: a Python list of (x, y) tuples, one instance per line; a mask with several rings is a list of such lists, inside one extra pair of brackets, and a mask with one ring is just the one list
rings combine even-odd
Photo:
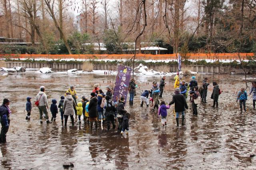
[[(47, 55), (47, 54), (4, 54), (2, 57), (10, 58), (38, 58), (38, 59), (130, 59), (134, 54), (59, 54), (59, 55)], [(181, 55), (182, 56), (182, 55)], [(238, 60), (238, 53), (187, 53), (188, 59), (234, 59)], [(242, 60), (248, 59), (248, 57), (254, 56), (254, 53), (240, 53)], [(153, 60), (166, 60), (176, 59), (176, 54), (136, 54), (136, 59), (153, 59)]]

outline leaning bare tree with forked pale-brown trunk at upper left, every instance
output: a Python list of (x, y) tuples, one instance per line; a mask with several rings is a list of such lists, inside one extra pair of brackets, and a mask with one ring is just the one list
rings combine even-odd
[(66, 39), (66, 35), (64, 34), (64, 30), (63, 30), (63, 10), (64, 10), (64, 0), (58, 0), (58, 16), (59, 18), (57, 18), (56, 12), (55, 12), (55, 0), (44, 0), (44, 2), (46, 3), (47, 6), (47, 11), (50, 14), (50, 16), (52, 17), (52, 20), (54, 22), (55, 27), (57, 28), (59, 34), (60, 34), (60, 38), (63, 40), (66, 48), (68, 49), (68, 53), (71, 53), (71, 49), (70, 46), (68, 44), (68, 41)]

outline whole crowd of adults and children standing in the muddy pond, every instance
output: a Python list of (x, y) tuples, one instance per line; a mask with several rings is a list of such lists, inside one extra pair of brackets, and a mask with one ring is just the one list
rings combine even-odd
[[(160, 99), (164, 93), (164, 87), (166, 76), (163, 76), (159, 85), (156, 81), (152, 83), (152, 89), (145, 90), (140, 95), (140, 106), (143, 107), (143, 103), (146, 103), (146, 107), (150, 105), (150, 102), (154, 103), (152, 111), (158, 111), (158, 117), (161, 116), (162, 126), (167, 125), (167, 109), (170, 109), (170, 105), (174, 106), (174, 113), (176, 113), (176, 124), (179, 126), (179, 115), (182, 115), (182, 125), (184, 125), (185, 119), (185, 109), (188, 109), (187, 98), (190, 96), (189, 101), (191, 102), (193, 115), (198, 115), (198, 104), (207, 103), (206, 96), (208, 92), (208, 78), (205, 77), (202, 81), (202, 86), (198, 87), (198, 82), (196, 77), (193, 76), (192, 80), (188, 83), (182, 80), (182, 77), (177, 73), (174, 77), (174, 95), (172, 96), (172, 101), (166, 105), (165, 101)], [(181, 82), (180, 82), (181, 81)], [(216, 82), (212, 83), (213, 91), (211, 99), (213, 99), (212, 107), (218, 107), (218, 98), (222, 93), (218, 84)], [(130, 93), (129, 105), (133, 105), (134, 96), (136, 96), (136, 85), (135, 81), (132, 79), (129, 83), (128, 91)], [(250, 89), (249, 95), (252, 94), (253, 108), (255, 109), (256, 102), (256, 81), (252, 83), (252, 88)], [(46, 123), (52, 123), (56, 121), (56, 115), (60, 112), (61, 122), (64, 127), (67, 127), (68, 117), (71, 119), (72, 126), (74, 126), (74, 115), (78, 116), (78, 123), (81, 123), (81, 117), (83, 116), (83, 121), (85, 124), (90, 125), (90, 128), (98, 128), (98, 125), (106, 125), (107, 129), (110, 130), (112, 125), (113, 129), (117, 129), (120, 134), (126, 131), (129, 133), (129, 119), (130, 113), (124, 108), (125, 101), (124, 97), (116, 98), (116, 102), (112, 99), (113, 90), (108, 85), (106, 87), (106, 94), (100, 89), (99, 84), (94, 84), (94, 89), (90, 93), (90, 99), (82, 97), (81, 102), (78, 102), (78, 96), (73, 85), (66, 91), (66, 93), (60, 97), (60, 101), (57, 106), (57, 100), (52, 99), (52, 104), (50, 105), (51, 120), (49, 120), (48, 115), (48, 99), (45, 93), (45, 87), (41, 86), (39, 93), (36, 95), (35, 105), (38, 107), (40, 115), (40, 123), (43, 123), (43, 118), (46, 119)], [(26, 120), (30, 120), (30, 115), (32, 111), (31, 97), (27, 97), (26, 101)], [(247, 92), (242, 88), (238, 95), (237, 101), (240, 104), (240, 113), (246, 111), (246, 100)], [(10, 126), (10, 114), (12, 113), (9, 108), (10, 100), (4, 99), (2, 105), (0, 106), (0, 123), (2, 125), (0, 133), (0, 142), (6, 142), (6, 133), (8, 132)], [(155, 110), (156, 109), (156, 110)]]

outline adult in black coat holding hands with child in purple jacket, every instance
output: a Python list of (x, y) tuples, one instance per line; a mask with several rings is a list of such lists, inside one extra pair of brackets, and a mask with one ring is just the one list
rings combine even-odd
[(185, 108), (188, 109), (188, 105), (186, 102), (186, 99), (184, 95), (180, 94), (180, 89), (175, 89), (175, 95), (172, 97), (172, 101), (169, 103), (169, 105), (172, 105), (175, 103), (175, 112), (176, 112), (176, 123), (177, 127), (179, 126), (179, 113), (182, 113), (182, 125), (184, 125), (184, 118), (185, 118)]

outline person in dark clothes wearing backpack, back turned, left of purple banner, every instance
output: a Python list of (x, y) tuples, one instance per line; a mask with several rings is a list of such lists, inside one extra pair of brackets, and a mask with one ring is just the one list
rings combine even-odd
[(104, 115), (106, 115), (106, 124), (108, 130), (110, 129), (110, 124), (112, 123), (113, 129), (116, 128), (115, 125), (115, 104), (111, 101), (110, 96), (106, 96), (106, 103), (104, 105)]

